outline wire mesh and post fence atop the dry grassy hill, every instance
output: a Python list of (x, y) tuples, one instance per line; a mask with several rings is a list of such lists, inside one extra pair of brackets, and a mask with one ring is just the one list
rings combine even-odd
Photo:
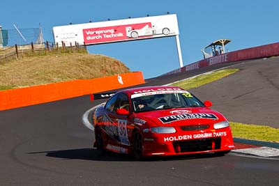
[(3, 30), (0, 26), (0, 62), (19, 59), (22, 56), (80, 52), (86, 50), (85, 43), (44, 42), (41, 27), (33, 29)]

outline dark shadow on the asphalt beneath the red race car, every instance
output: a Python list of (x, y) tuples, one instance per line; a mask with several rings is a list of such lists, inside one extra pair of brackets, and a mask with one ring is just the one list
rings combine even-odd
[(114, 162), (131, 162), (131, 161), (174, 161), (174, 160), (191, 160), (191, 159), (202, 159), (211, 157), (220, 157), (223, 155), (215, 155), (213, 153), (204, 153), (198, 155), (179, 155), (169, 157), (145, 157), (141, 160), (135, 160), (130, 155), (124, 155), (119, 153), (100, 153), (95, 148), (79, 148), (69, 150), (52, 150), (44, 152), (33, 152), (28, 154), (45, 154), (47, 157), (56, 157), (67, 160), (95, 160), (95, 161), (114, 161)]

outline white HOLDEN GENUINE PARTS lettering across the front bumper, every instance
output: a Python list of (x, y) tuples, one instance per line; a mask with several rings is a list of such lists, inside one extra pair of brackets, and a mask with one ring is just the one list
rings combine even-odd
[(210, 137), (226, 137), (227, 132), (206, 132), (202, 134), (188, 134), (183, 136), (176, 136), (176, 137), (164, 137), (164, 141), (181, 141), (187, 139), (203, 139), (203, 138), (210, 138)]

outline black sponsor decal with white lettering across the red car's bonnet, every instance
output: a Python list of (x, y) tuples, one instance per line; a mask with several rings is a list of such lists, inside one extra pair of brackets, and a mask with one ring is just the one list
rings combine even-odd
[(188, 119), (218, 119), (214, 114), (178, 114), (174, 116), (165, 116), (159, 118), (162, 123), (170, 123), (172, 121), (188, 120)]

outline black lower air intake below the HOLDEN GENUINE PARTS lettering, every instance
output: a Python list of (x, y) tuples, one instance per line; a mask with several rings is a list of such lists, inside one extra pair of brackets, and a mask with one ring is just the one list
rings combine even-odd
[(194, 139), (172, 142), (176, 153), (190, 153), (197, 151), (215, 150), (221, 147), (221, 138)]

